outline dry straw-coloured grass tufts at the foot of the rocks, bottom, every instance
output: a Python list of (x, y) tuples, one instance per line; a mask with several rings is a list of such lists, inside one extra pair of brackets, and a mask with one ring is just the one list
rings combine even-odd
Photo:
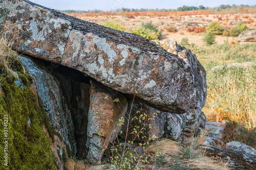
[[(221, 169), (230, 168), (229, 162), (223, 162), (214, 158), (208, 158), (204, 152), (198, 147), (204, 139), (207, 131), (187, 144), (179, 144), (170, 139), (162, 139), (151, 144), (144, 151), (146, 155), (155, 157), (155, 164), (150, 169)], [(161, 152), (156, 157), (157, 152)], [(136, 167), (141, 166), (138, 164)], [(144, 167), (150, 167), (144, 165)]]

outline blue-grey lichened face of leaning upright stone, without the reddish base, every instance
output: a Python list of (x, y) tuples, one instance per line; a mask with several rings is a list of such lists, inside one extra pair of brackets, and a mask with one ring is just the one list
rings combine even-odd
[[(76, 141), (74, 138), (74, 125), (70, 110), (62, 100), (62, 92), (59, 82), (45, 70), (40, 70), (34, 62), (25, 57), (20, 57), (23, 65), (35, 81), (38, 96), (42, 101), (43, 108), (49, 118), (50, 125), (61, 134), (62, 140), (76, 152)], [(69, 140), (69, 137), (72, 140)]]

